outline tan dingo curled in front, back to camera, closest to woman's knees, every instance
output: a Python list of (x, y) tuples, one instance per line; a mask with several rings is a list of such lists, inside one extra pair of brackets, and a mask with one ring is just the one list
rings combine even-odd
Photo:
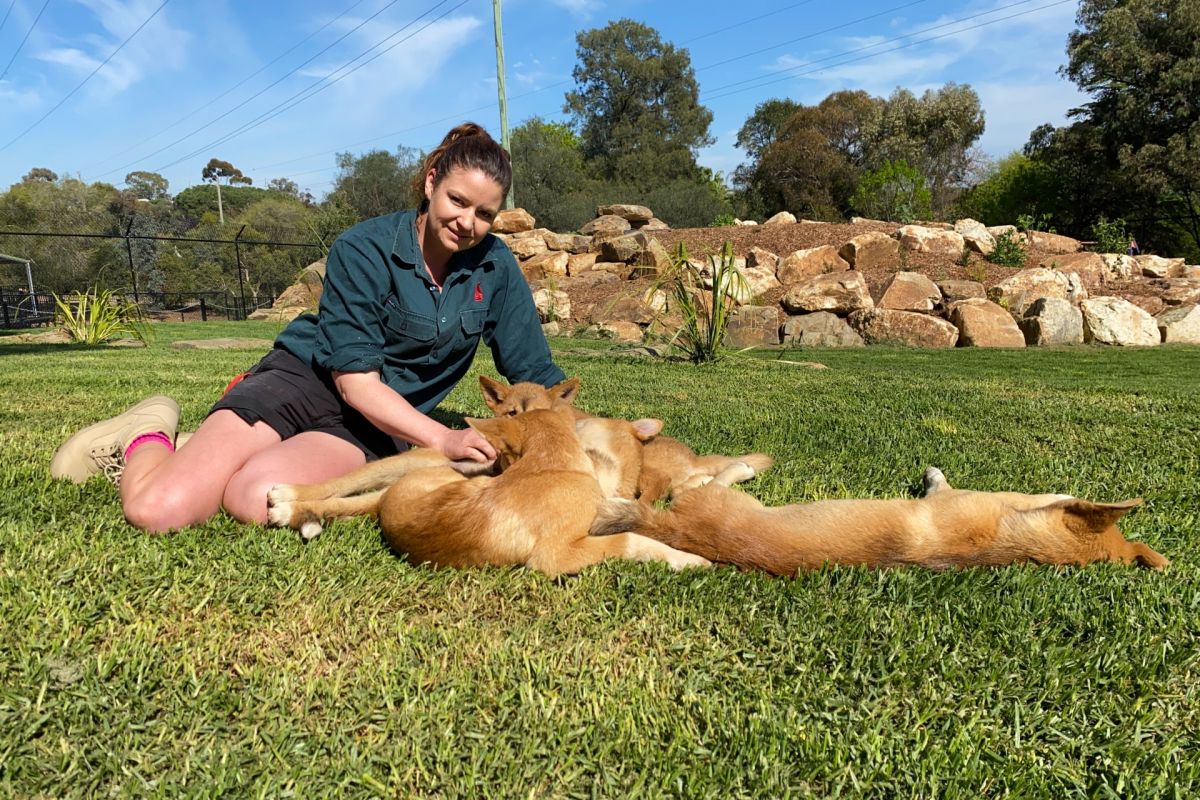
[[(274, 487), (270, 521), (311, 536), (320, 519), (373, 515), (391, 548), (414, 564), (523, 564), (552, 576), (606, 558), (665, 561), (676, 570), (708, 565), (637, 534), (588, 535), (605, 495), (570, 409), (467, 423), (499, 453), (498, 476), (468, 479), (440, 453), (418, 449), (324, 485)], [(336, 497), (388, 483), (368, 494)]]

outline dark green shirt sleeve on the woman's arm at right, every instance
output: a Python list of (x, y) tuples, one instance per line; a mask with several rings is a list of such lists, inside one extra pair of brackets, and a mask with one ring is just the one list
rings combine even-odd
[(496, 260), (498, 291), (484, 329), (484, 342), (492, 350), (496, 368), (511, 384), (528, 380), (553, 386), (566, 380), (563, 371), (551, 360), (550, 344), (541, 332), (529, 284), (516, 260), (506, 252)]

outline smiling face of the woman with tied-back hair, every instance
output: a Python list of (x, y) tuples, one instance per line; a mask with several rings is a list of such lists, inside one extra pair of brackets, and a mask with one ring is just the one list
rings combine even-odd
[(433, 185), (433, 170), (425, 175), (425, 197), (430, 212), (425, 223), (426, 236), (446, 253), (457, 253), (478, 245), (504, 204), (504, 187), (480, 169), (456, 167)]

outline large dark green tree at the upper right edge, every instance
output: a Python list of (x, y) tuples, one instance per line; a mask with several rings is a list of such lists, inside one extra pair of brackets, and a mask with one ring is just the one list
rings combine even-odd
[(1075, 22), (1063, 73), (1092, 100), (1073, 114), (1100, 132), (1122, 178), (1153, 198), (1153, 222), (1177, 218), (1200, 249), (1195, 0), (1081, 0)]

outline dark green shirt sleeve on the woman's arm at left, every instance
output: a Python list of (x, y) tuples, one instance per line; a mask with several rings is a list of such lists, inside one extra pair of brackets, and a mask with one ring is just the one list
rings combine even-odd
[(365, 253), (346, 239), (330, 247), (317, 319), (319, 366), (336, 372), (383, 367), (388, 285), (379, 258), (379, 253)]

